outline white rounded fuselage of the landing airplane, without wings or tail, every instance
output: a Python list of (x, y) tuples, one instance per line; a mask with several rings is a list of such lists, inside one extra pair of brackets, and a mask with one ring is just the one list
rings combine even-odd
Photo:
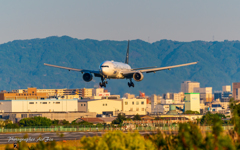
[(124, 79), (121, 71), (130, 71), (131, 67), (128, 64), (114, 61), (104, 61), (99, 66), (101, 74), (106, 78)]

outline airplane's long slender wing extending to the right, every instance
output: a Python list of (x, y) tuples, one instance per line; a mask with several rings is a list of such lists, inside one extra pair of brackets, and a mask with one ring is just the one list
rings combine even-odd
[(174, 66), (167, 66), (167, 67), (160, 67), (160, 68), (150, 68), (150, 69), (141, 69), (141, 70), (131, 70), (131, 71), (122, 71), (121, 73), (124, 76), (129, 76), (132, 75), (136, 72), (146, 72), (146, 73), (151, 73), (151, 72), (156, 72), (156, 71), (161, 71), (161, 70), (170, 70), (172, 68), (177, 68), (177, 67), (183, 67), (183, 66), (188, 66), (188, 65), (195, 65), (198, 62), (192, 62), (192, 63), (187, 63), (187, 64), (180, 64), (180, 65), (174, 65)]

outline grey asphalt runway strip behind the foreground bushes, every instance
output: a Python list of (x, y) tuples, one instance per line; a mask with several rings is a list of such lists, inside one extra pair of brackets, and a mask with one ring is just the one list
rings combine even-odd
[[(60, 134), (63, 134), (63, 137), (60, 137)], [(44, 132), (44, 133), (27, 133), (28, 138), (23, 139), (26, 133), (11, 133), (11, 134), (0, 134), (0, 144), (12, 144), (16, 143), (17, 140), (26, 140), (27, 143), (43, 141), (61, 141), (61, 140), (78, 140), (85, 136), (100, 136), (105, 132)], [(152, 132), (139, 132), (141, 135), (152, 134)]]

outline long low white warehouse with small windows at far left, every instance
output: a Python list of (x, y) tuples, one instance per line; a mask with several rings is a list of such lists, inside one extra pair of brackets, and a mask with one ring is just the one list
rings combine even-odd
[(78, 99), (0, 100), (0, 112), (76, 112)]

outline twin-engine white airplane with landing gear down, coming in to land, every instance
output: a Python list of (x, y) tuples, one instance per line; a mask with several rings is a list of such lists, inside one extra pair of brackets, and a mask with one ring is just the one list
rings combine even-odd
[(143, 73), (151, 73), (151, 72), (157, 72), (161, 70), (170, 70), (172, 68), (176, 67), (182, 67), (182, 66), (188, 66), (188, 65), (194, 65), (198, 62), (191, 62), (186, 64), (180, 64), (180, 65), (174, 65), (174, 66), (167, 66), (167, 67), (143, 67), (143, 68), (134, 68), (132, 69), (129, 65), (129, 40), (128, 40), (128, 46), (127, 46), (127, 53), (125, 62), (115, 62), (115, 61), (104, 61), (100, 64), (99, 70), (85, 70), (85, 69), (76, 69), (76, 68), (69, 68), (69, 67), (63, 67), (63, 66), (57, 66), (52, 64), (44, 63), (45, 66), (50, 67), (56, 67), (61, 69), (66, 69), (69, 71), (78, 71), (83, 74), (83, 80), (86, 82), (90, 82), (93, 79), (93, 74), (95, 77), (100, 77), (101, 81), (99, 85), (101, 87), (106, 87), (106, 84), (108, 83), (106, 79), (129, 79), (130, 82), (128, 82), (129, 87), (134, 87), (134, 83), (132, 82), (132, 79), (139, 82), (142, 81), (144, 78)]

